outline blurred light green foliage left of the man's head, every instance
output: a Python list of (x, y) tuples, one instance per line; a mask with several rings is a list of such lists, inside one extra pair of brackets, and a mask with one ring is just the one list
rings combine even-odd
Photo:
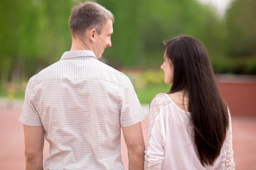
[(27, 79), (69, 50), (73, 1), (1, 1), (0, 81)]

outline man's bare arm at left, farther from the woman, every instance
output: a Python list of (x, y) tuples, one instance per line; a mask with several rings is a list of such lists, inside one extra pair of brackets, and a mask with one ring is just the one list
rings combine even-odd
[(25, 138), (26, 170), (43, 169), (43, 126), (23, 125)]

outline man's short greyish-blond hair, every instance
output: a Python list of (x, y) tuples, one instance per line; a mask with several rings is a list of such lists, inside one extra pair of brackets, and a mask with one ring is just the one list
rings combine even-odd
[(114, 16), (109, 10), (100, 4), (87, 1), (73, 8), (68, 24), (73, 36), (82, 36), (86, 30), (93, 28), (100, 34), (109, 19), (114, 23)]

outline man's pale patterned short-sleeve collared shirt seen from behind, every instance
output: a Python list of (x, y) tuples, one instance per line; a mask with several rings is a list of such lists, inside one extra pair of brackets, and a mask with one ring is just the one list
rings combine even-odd
[(46, 169), (124, 169), (121, 127), (144, 118), (129, 78), (81, 50), (31, 77), (19, 121), (43, 126)]

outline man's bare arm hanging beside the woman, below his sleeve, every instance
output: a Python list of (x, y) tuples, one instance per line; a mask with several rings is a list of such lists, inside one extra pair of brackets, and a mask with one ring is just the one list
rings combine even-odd
[(141, 123), (123, 127), (122, 130), (128, 150), (129, 170), (143, 169), (145, 144)]

